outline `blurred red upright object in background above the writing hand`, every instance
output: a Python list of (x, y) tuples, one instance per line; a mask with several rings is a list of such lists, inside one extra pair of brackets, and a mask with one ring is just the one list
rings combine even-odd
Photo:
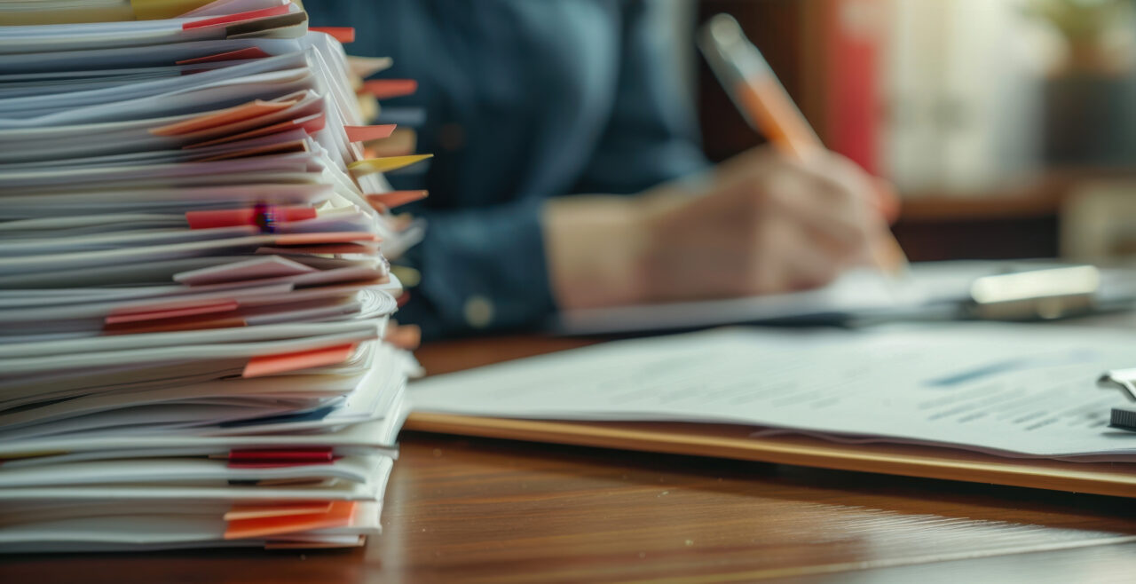
[(824, 0), (827, 147), (871, 174), (879, 173), (879, 0)]

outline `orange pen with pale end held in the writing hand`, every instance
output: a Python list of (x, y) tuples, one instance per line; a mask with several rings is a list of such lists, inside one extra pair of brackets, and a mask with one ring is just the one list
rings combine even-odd
[[(775, 148), (800, 160), (825, 150), (820, 137), (734, 17), (719, 14), (710, 18), (702, 27), (699, 48), (742, 117)], [(899, 210), (895, 195), (883, 184), (877, 189), (876, 203), (888, 218)], [(876, 248), (874, 259), (888, 272), (902, 272), (908, 264), (899, 242), (891, 236)]]

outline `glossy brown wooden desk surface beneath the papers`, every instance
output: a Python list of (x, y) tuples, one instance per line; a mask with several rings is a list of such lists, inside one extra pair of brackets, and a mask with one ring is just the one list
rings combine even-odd
[[(436, 344), (441, 373), (585, 344)], [(0, 560), (0, 582), (1130, 582), (1130, 500), (408, 434), (361, 550)]]

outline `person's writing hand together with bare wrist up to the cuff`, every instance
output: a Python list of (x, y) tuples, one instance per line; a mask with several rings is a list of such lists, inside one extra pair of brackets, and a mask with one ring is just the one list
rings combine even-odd
[(835, 155), (796, 161), (757, 149), (694, 189), (550, 201), (545, 234), (561, 308), (815, 287), (876, 262), (891, 237), (876, 180)]

